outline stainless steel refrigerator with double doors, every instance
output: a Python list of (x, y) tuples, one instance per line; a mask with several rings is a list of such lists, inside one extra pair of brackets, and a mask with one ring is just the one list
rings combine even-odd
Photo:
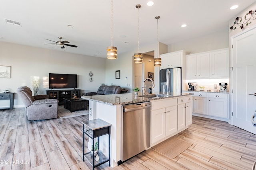
[(160, 92), (162, 94), (181, 93), (181, 68), (167, 68), (160, 70)]

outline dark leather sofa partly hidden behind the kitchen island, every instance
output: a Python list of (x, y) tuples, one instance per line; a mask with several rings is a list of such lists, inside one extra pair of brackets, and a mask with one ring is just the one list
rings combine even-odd
[(98, 88), (97, 92), (86, 93), (86, 96), (104, 95), (104, 94), (120, 94), (122, 88), (120, 86), (106, 86), (102, 85)]

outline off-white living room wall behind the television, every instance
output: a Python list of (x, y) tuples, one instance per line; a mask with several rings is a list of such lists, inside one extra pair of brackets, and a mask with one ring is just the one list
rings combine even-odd
[[(48, 78), (48, 73), (78, 74), (77, 89), (97, 92), (100, 83), (105, 83), (105, 61), (99, 57), (0, 42), (0, 65), (12, 67), (11, 78), (0, 78), (0, 92), (5, 89), (16, 92), (19, 86), (32, 89), (30, 78), (39, 76), (39, 94), (46, 94), (48, 86), (44, 88), (42, 82), (43, 78)], [(92, 82), (89, 81), (90, 71), (93, 73)], [(0, 101), (0, 107), (6, 105), (7, 101)], [(23, 107), (17, 94), (14, 94), (14, 107)]]

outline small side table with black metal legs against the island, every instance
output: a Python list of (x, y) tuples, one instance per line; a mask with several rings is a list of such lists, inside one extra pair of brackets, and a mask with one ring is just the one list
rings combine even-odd
[[(83, 123), (83, 161), (84, 158), (90, 162), (92, 165), (92, 169), (101, 164), (108, 162), (108, 166), (110, 166), (110, 126), (111, 124), (103, 121), (102, 119), (93, 119), (89, 121), (82, 121)], [(99, 161), (96, 161), (94, 155), (91, 156), (91, 152), (84, 153), (84, 135), (87, 135), (92, 139), (92, 146), (94, 146), (95, 138), (98, 138), (102, 135), (108, 135), (108, 157), (106, 157), (98, 148), (98, 156), (100, 158)], [(94, 147), (92, 150), (94, 153)]]

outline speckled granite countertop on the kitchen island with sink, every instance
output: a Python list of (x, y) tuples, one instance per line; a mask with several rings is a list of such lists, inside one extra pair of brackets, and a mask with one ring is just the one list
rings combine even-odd
[(167, 96), (167, 97), (147, 98), (146, 96), (150, 96), (153, 94), (144, 95), (145, 97), (140, 97), (140, 96), (135, 96), (134, 93), (124, 93), (124, 94), (81, 96), (81, 98), (107, 104), (107, 105), (126, 105), (126, 104), (140, 103), (140, 102), (148, 102), (151, 100), (175, 98), (180, 96), (189, 96), (192, 94), (193, 93), (172, 93), (170, 94), (171, 96)]

